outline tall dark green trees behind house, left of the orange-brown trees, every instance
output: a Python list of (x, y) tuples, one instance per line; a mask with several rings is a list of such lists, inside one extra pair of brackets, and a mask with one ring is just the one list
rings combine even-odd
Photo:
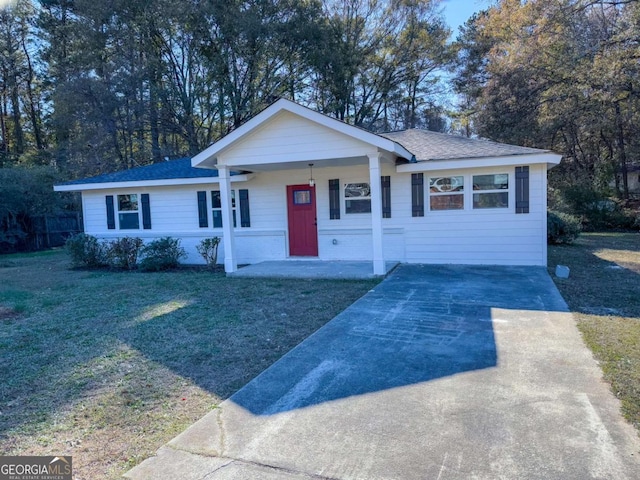
[(193, 155), (286, 97), (444, 128), (440, 0), (17, 0), (0, 11), (0, 167), (67, 177)]

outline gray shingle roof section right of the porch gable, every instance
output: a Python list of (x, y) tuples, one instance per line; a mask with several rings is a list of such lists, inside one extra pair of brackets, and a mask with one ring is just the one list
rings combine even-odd
[(518, 147), (506, 143), (430, 132), (417, 128), (381, 133), (380, 135), (402, 145), (413, 153), (418, 161), (504, 157), (548, 152), (548, 150)]

